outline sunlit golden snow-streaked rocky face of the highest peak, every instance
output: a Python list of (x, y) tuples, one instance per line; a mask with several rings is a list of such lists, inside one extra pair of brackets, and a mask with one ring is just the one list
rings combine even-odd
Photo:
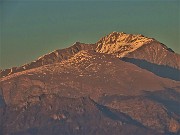
[(96, 51), (123, 57), (125, 54), (154, 41), (156, 40), (141, 34), (127, 34), (114, 31), (97, 42)]

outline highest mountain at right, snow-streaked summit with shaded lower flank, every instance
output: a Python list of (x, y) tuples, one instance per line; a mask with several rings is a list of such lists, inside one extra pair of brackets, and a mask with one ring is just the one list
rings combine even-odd
[(180, 55), (153, 38), (113, 32), (97, 42), (96, 51), (115, 55), (158, 76), (180, 81)]

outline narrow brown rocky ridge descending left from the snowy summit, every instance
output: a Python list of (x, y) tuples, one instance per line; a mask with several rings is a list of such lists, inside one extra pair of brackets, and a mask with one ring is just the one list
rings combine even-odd
[(84, 44), (76, 42), (69, 48), (55, 50), (51, 53), (39, 57), (37, 60), (31, 63), (25, 64), (20, 67), (13, 67), (10, 69), (2, 70), (0, 71), (0, 76), (5, 77), (16, 72), (21, 72), (32, 68), (37, 68), (40, 66), (61, 62), (63, 60), (67, 60), (68, 58), (72, 57), (74, 54), (81, 50), (94, 50), (95, 48), (96, 45), (94, 44)]

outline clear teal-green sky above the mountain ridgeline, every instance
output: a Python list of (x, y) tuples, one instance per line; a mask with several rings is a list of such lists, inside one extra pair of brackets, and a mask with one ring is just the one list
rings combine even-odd
[(113, 32), (153, 37), (180, 53), (178, 0), (1, 0), (0, 68)]

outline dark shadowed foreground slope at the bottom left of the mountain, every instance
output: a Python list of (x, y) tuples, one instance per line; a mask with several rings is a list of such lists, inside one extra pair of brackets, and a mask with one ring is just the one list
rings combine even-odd
[[(8, 107), (9, 113), (3, 115), (5, 121), (3, 133), (13, 135), (116, 135), (117, 133), (161, 135), (137, 125), (135, 120), (116, 110), (101, 108), (89, 98), (72, 99), (44, 95), (40, 102), (29, 105), (28, 108), (16, 110)], [(18, 117), (14, 117), (16, 115)]]

